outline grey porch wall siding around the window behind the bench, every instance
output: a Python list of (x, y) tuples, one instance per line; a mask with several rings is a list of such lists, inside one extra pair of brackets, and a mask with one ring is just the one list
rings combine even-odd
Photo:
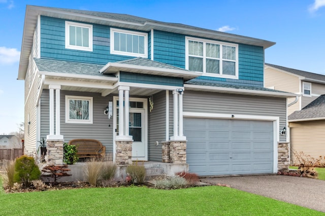
[[(93, 97), (93, 124), (66, 123), (66, 95)], [(100, 140), (106, 153), (113, 152), (113, 117), (108, 119), (104, 109), (112, 96), (102, 97), (100, 93), (60, 91), (61, 135), (64, 142), (71, 139), (88, 138)], [(44, 90), (41, 98), (41, 138), (49, 134), (49, 90)]]

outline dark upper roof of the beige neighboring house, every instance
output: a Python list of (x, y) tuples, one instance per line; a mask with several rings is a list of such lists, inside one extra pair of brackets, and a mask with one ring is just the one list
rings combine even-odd
[(275, 64), (269, 64), (269, 63), (265, 63), (265, 65), (270, 66), (270, 67), (274, 67), (280, 70), (284, 70), (288, 73), (297, 75), (301, 77), (301, 80), (305, 80), (305, 81), (312, 81), (312, 82), (316, 82), (316, 83), (325, 83), (325, 76), (324, 75), (320, 75), (320, 74), (315, 74), (315, 73), (311, 73), (311, 72), (307, 72), (307, 71), (303, 71), (303, 70), (298, 70), (298, 69), (293, 69), (293, 68), (289, 68), (289, 67), (283, 67), (283, 66), (279, 66), (279, 65), (275, 65)]

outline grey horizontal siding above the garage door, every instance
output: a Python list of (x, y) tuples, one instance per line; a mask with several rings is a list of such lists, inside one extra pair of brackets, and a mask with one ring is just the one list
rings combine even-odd
[[(233, 114), (235, 118), (236, 115), (275, 116), (280, 118), (280, 128), (286, 126), (285, 98), (184, 91), (183, 111)], [(280, 136), (280, 141), (286, 141), (286, 137)]]

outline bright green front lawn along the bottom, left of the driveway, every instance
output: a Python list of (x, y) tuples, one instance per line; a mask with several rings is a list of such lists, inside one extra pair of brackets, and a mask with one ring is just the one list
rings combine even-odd
[(0, 191), (0, 203), (0, 215), (324, 215), (218, 186), (179, 190), (87, 188), (14, 194)]

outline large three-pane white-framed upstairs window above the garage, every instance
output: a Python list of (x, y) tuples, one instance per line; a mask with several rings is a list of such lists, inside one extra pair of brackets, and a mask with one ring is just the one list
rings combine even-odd
[(186, 69), (238, 79), (238, 44), (186, 37)]

